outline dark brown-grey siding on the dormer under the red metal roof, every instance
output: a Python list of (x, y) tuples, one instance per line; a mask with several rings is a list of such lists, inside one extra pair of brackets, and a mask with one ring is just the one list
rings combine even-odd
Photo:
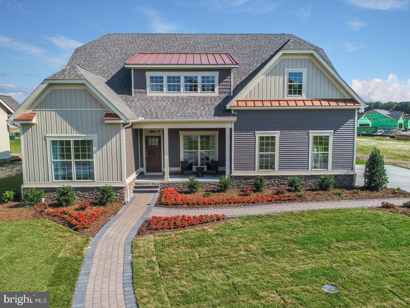
[[(195, 71), (191, 69), (134, 69), (134, 95), (147, 95), (147, 79), (146, 72), (155, 71), (169, 71), (169, 72), (186, 72), (189, 71), (190, 74), (195, 74)], [(230, 69), (199, 69), (197, 71), (219, 71), (218, 75), (218, 95), (230, 95), (231, 92), (231, 71)], [(171, 96), (178, 96), (178, 94), (170, 94)]]

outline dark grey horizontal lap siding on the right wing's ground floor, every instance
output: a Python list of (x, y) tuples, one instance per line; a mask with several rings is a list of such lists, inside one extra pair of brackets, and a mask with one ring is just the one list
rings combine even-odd
[(234, 171), (255, 171), (255, 131), (280, 131), (278, 171), (309, 170), (309, 131), (333, 130), (332, 170), (353, 170), (354, 109), (235, 110)]

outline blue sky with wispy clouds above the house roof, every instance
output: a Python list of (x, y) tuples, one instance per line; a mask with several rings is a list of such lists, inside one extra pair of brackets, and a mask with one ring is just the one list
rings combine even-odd
[(365, 101), (410, 101), (410, 0), (0, 0), (0, 11), (0, 94), (19, 102), (75, 47), (118, 32), (292, 33)]

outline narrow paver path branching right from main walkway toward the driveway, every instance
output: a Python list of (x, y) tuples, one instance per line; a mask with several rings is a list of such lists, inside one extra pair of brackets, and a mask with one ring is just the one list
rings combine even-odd
[(320, 202), (292, 202), (282, 204), (260, 204), (244, 207), (212, 207), (206, 209), (167, 209), (165, 207), (153, 207), (153, 216), (172, 215), (200, 215), (200, 214), (226, 214), (228, 217), (241, 215), (259, 215), (269, 213), (280, 213), (286, 211), (304, 211), (309, 209), (342, 209), (348, 207), (378, 207), (382, 201), (389, 201), (401, 205), (408, 198), (392, 199), (365, 199), (365, 200), (340, 200)]

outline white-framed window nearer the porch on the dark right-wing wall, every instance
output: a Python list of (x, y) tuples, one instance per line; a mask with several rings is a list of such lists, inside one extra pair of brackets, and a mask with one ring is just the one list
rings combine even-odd
[(278, 170), (279, 132), (256, 132), (256, 170)]

